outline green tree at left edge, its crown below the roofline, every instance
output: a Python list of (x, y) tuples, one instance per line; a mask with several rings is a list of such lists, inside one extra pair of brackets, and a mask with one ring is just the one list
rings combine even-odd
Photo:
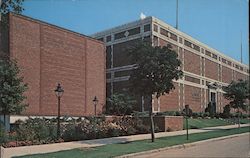
[[(20, 114), (27, 104), (24, 92), (27, 84), (20, 77), (17, 63), (7, 59), (0, 59), (0, 114)], [(5, 119), (4, 119), (5, 124)]]

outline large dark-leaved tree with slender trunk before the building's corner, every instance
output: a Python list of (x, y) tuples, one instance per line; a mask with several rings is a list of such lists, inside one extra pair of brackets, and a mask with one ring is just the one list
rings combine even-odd
[[(150, 42), (141, 42), (130, 50), (130, 56), (135, 63), (135, 69), (130, 76), (130, 91), (134, 94), (158, 99), (161, 95), (174, 89), (173, 80), (182, 76), (179, 69), (181, 61), (170, 45), (153, 47)], [(150, 107), (151, 136), (154, 142), (154, 122), (152, 104)]]

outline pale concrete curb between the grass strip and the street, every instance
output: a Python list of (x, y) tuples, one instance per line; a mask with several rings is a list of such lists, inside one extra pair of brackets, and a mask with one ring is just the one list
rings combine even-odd
[(243, 135), (247, 135), (247, 134), (249, 135), (249, 133), (247, 132), (247, 133), (234, 134), (234, 135), (229, 135), (229, 136), (224, 136), (224, 137), (211, 138), (211, 139), (201, 140), (201, 141), (187, 143), (187, 144), (174, 145), (174, 146), (165, 147), (165, 148), (159, 148), (159, 149), (154, 149), (154, 150), (149, 150), (149, 151), (143, 151), (143, 152), (138, 152), (138, 153), (117, 156), (116, 158), (130, 158), (130, 157), (134, 157), (134, 156), (142, 156), (142, 155), (157, 153), (157, 152), (166, 151), (166, 150), (170, 150), (170, 149), (185, 149), (185, 148), (196, 146), (198, 144), (202, 144), (202, 143), (206, 143), (206, 142), (213, 142), (213, 141), (219, 141), (219, 140), (224, 140), (224, 139), (230, 139), (230, 138), (239, 137), (239, 136), (243, 136)]

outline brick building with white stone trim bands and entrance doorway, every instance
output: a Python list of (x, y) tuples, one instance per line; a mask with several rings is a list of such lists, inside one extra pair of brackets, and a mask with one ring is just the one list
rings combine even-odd
[[(126, 49), (147, 39), (153, 46), (172, 45), (182, 62), (184, 76), (174, 81), (175, 89), (152, 100), (153, 111), (182, 110), (189, 104), (193, 111), (204, 111), (209, 102), (221, 112), (227, 104), (222, 87), (232, 80), (247, 79), (248, 65), (225, 56), (155, 17), (127, 23), (92, 37), (106, 43), (107, 96), (125, 90), (133, 69)], [(144, 111), (144, 97), (139, 110)]]

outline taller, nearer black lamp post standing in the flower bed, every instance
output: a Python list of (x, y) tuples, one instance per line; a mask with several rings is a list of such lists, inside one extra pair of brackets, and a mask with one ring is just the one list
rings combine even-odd
[(57, 113), (57, 138), (60, 137), (60, 102), (61, 102), (61, 97), (63, 95), (63, 88), (61, 87), (60, 83), (58, 83), (56, 89), (55, 89), (55, 93), (58, 99), (58, 113)]

